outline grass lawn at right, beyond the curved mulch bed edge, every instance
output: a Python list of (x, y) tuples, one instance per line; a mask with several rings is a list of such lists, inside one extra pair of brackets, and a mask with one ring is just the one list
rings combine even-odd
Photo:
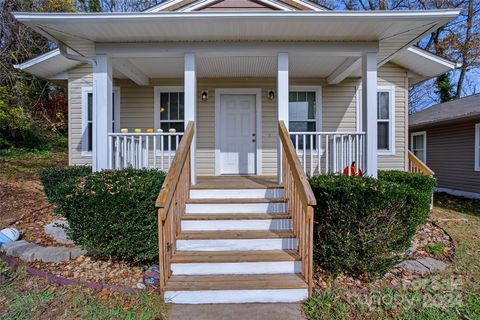
[[(432, 218), (454, 239), (453, 263), (402, 290), (324, 291), (305, 303), (310, 319), (480, 319), (480, 201), (435, 195)], [(435, 250), (435, 248), (433, 248)]]

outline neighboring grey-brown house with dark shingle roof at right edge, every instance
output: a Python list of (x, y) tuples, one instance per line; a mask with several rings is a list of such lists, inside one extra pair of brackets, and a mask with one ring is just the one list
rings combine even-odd
[(409, 116), (410, 150), (435, 172), (437, 190), (480, 199), (480, 94)]

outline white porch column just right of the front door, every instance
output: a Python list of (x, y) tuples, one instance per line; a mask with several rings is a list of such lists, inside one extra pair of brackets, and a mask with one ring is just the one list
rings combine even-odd
[[(278, 120), (283, 120), (288, 128), (288, 53), (281, 52), (277, 59), (277, 105)], [(278, 138), (277, 148), (278, 184), (282, 184), (282, 143)]]

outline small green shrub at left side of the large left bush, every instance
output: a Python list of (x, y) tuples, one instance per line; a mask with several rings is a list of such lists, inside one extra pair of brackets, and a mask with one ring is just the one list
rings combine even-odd
[[(38, 171), (48, 201), (56, 205), (60, 205), (66, 195), (72, 193), (78, 178), (90, 173), (92, 173), (92, 167), (89, 166), (52, 166)], [(59, 207), (58, 212), (61, 213), (61, 210), (62, 208)]]

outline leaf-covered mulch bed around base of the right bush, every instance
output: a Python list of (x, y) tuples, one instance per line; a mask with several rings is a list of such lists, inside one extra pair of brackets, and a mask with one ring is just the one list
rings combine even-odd
[[(442, 243), (445, 247), (442, 255), (435, 256), (425, 250), (425, 245), (429, 243)], [(414, 251), (408, 257), (417, 259), (431, 257), (450, 263), (455, 254), (455, 244), (453, 239), (438, 225), (428, 222), (423, 228), (417, 231), (414, 239)], [(367, 277), (353, 278), (340, 274), (332, 278), (325, 270), (314, 267), (314, 283), (321, 291), (326, 289), (341, 289), (351, 292), (369, 292), (380, 288), (398, 289), (411, 285), (415, 281), (428, 277), (429, 274), (412, 273), (402, 268), (393, 268), (383, 277), (370, 281)]]

